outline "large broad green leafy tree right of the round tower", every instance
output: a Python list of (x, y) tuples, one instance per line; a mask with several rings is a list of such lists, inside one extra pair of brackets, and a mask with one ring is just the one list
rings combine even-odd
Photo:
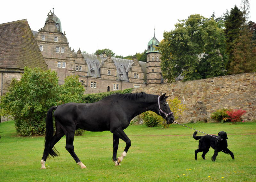
[(180, 74), (184, 81), (224, 75), (224, 40), (223, 30), (213, 19), (195, 14), (179, 20), (159, 43), (164, 79), (174, 82)]

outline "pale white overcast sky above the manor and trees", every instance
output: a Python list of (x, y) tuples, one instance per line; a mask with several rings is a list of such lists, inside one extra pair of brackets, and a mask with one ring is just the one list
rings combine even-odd
[[(249, 20), (255, 22), (256, 0), (249, 2)], [(1, 1), (0, 24), (27, 19), (30, 28), (38, 31), (54, 7), (71, 49), (80, 48), (92, 54), (107, 48), (125, 57), (147, 49), (154, 28), (160, 42), (163, 32), (174, 29), (178, 19), (187, 19), (191, 14), (208, 18), (213, 11), (220, 17), (235, 4), (240, 7), (241, 0), (12, 0)]]

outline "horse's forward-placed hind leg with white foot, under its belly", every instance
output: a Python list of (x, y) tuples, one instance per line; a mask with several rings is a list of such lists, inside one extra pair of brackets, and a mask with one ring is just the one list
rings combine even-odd
[(80, 165), (81, 168), (86, 168), (86, 166), (80, 161), (80, 159), (77, 157), (76, 153), (74, 152), (74, 136), (75, 136), (75, 130), (72, 132), (66, 133), (66, 149), (68, 150), (69, 154), (75, 159), (77, 165)]

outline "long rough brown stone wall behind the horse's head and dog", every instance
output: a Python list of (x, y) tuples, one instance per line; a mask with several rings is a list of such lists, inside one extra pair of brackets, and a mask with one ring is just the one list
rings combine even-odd
[(211, 113), (221, 108), (246, 110), (242, 119), (256, 119), (256, 72), (133, 89), (141, 91), (178, 97), (188, 108), (178, 122), (211, 121)]

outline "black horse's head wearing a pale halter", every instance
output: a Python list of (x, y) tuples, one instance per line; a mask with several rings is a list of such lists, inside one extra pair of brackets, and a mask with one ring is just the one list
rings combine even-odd
[(158, 112), (156, 112), (158, 115), (162, 116), (164, 119), (166, 119), (166, 123), (169, 125), (173, 123), (174, 116), (173, 112), (171, 111), (169, 104), (166, 102), (167, 97), (165, 94), (158, 96)]

